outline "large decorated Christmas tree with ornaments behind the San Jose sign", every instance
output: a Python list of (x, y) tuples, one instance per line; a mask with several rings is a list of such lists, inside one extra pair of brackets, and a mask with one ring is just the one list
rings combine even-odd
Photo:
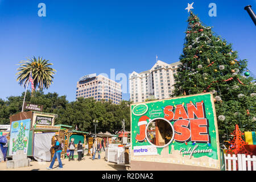
[(212, 92), (221, 143), (230, 139), (234, 126), (253, 131), (256, 86), (247, 61), (238, 60), (232, 44), (204, 26), (192, 12), (185, 32), (181, 67), (175, 76), (172, 97)]

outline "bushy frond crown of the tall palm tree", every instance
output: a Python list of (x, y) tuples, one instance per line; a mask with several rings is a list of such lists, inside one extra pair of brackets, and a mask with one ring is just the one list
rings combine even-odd
[(16, 73), (16, 75), (18, 75), (16, 81), (25, 88), (29, 81), (30, 72), (32, 71), (34, 88), (48, 89), (53, 83), (53, 75), (55, 75), (56, 72), (55, 69), (49, 67), (49, 65), (53, 64), (48, 63), (48, 61), (49, 60), (43, 60), (42, 57), (36, 59), (35, 56), (27, 61), (20, 61), (20, 64), (18, 64), (20, 67), (17, 69), (19, 72)]

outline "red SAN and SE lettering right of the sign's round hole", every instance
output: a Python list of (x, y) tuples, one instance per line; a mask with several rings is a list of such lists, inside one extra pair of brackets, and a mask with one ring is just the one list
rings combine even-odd
[[(175, 111), (174, 111), (175, 109)], [(210, 142), (209, 123), (205, 115), (204, 102), (192, 102), (187, 104), (187, 110), (184, 104), (164, 107), (164, 118), (174, 122), (175, 135), (177, 142)]]

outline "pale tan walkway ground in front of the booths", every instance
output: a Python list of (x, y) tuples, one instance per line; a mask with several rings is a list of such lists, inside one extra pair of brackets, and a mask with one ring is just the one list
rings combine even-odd
[[(119, 166), (115, 163), (107, 162), (105, 158), (105, 152), (101, 153), (101, 159), (92, 160), (90, 156), (84, 156), (84, 160), (77, 161), (77, 158), (73, 161), (68, 161), (68, 159), (63, 159), (63, 169), (57, 169), (58, 162), (56, 161), (53, 165), (54, 171), (124, 171), (125, 167)], [(37, 162), (32, 161), (30, 167), (22, 167), (16, 169), (7, 169), (6, 162), (0, 163), (0, 171), (46, 171), (46, 167), (49, 167), (50, 162)]]

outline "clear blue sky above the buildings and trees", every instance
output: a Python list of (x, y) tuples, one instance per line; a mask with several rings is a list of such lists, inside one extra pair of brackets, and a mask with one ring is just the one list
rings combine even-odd
[[(38, 4), (46, 4), (46, 17)], [(204, 24), (249, 61), (256, 73), (255, 25), (243, 7), (256, 1), (12, 1), (0, 0), (0, 98), (19, 96), (16, 82), (20, 60), (43, 56), (57, 70), (45, 92), (75, 100), (76, 82), (90, 73), (142, 72), (155, 64), (155, 55), (167, 63), (179, 61), (187, 28), (187, 3)], [(216, 3), (217, 17), (208, 15)], [(123, 94), (129, 100), (129, 94)]]

